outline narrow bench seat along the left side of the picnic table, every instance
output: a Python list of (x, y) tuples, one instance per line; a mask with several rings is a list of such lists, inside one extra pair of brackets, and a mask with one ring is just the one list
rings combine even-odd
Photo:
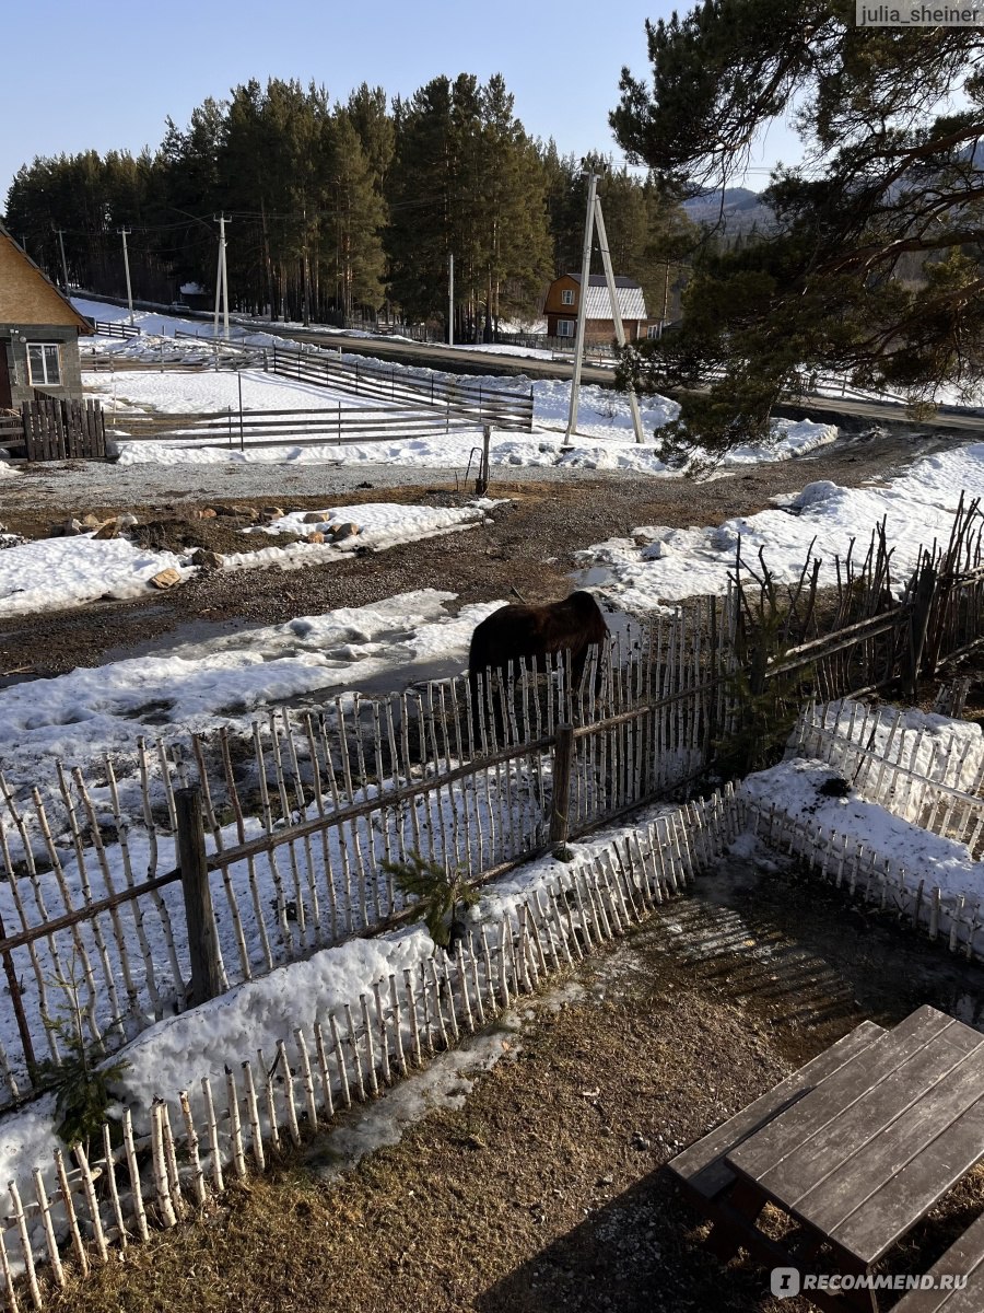
[(724, 1161), (726, 1154), (753, 1136), (777, 1113), (802, 1099), (821, 1081), (840, 1071), (845, 1064), (867, 1052), (876, 1041), (880, 1043), (884, 1033), (874, 1022), (862, 1022), (768, 1094), (677, 1154), (669, 1163), (670, 1171), (699, 1195), (712, 1197), (719, 1194), (735, 1179), (735, 1173)]

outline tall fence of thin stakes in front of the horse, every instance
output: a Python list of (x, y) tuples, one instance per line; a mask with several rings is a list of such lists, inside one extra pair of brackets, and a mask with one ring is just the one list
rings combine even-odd
[[(491, 878), (644, 801), (699, 789), (711, 767), (744, 773), (732, 746), (774, 742), (786, 710), (791, 726), (817, 692), (932, 675), (972, 641), (979, 614), (955, 601), (980, 588), (977, 562), (947, 575), (945, 558), (926, 558), (899, 604), (875, 542), (844, 563), (832, 595), (790, 587), (779, 628), (761, 624), (768, 574), (743, 578), (750, 567), (737, 563), (727, 597), (636, 625), (577, 687), (560, 663), (478, 675), (478, 701), (461, 678), (388, 697), (310, 696), (247, 733), (142, 743), (88, 779), (59, 765), (43, 797), (41, 781), (0, 776), (0, 964), (20, 1041), (0, 1048), (0, 1104), (30, 1091), (43, 1058), (59, 1061), (43, 1016), (72, 953), (87, 1033), (110, 1050), (194, 997), (412, 915), (384, 861), (420, 853)], [(930, 650), (921, 637), (934, 626)], [(201, 792), (201, 831), (178, 825), (188, 786)], [(190, 890), (182, 873), (199, 876)], [(215, 923), (205, 985), (186, 895)]]

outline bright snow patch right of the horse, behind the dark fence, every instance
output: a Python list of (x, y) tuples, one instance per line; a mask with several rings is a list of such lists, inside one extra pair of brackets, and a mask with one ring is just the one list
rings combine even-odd
[(580, 551), (577, 559), (584, 569), (605, 569), (604, 592), (613, 603), (647, 611), (664, 601), (726, 592), (739, 542), (749, 563), (756, 563), (761, 549), (778, 582), (799, 579), (812, 549), (823, 559), (821, 584), (833, 583), (834, 557), (844, 559), (853, 542), (863, 555), (872, 530), (886, 519), (895, 587), (901, 591), (920, 548), (949, 538), (962, 492), (967, 499), (984, 495), (984, 444), (926, 457), (884, 484), (810, 483), (799, 494), (774, 498), (774, 508), (716, 528), (643, 525), (632, 537)]

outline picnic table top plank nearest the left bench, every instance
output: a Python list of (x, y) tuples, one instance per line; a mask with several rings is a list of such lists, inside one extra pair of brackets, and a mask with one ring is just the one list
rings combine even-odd
[(921, 1007), (895, 1029), (887, 1032), (870, 1049), (845, 1064), (836, 1074), (804, 1095), (791, 1109), (774, 1117), (769, 1125), (736, 1148), (728, 1157), (739, 1171), (752, 1180), (761, 1180), (787, 1159), (798, 1154), (828, 1125), (836, 1125), (846, 1109), (863, 1098), (879, 1082), (887, 1079), (896, 1067), (920, 1053), (926, 1045), (946, 1032), (956, 1036), (966, 1048), (966, 1035), (980, 1039), (976, 1032), (962, 1027), (953, 1018), (935, 1008)]

